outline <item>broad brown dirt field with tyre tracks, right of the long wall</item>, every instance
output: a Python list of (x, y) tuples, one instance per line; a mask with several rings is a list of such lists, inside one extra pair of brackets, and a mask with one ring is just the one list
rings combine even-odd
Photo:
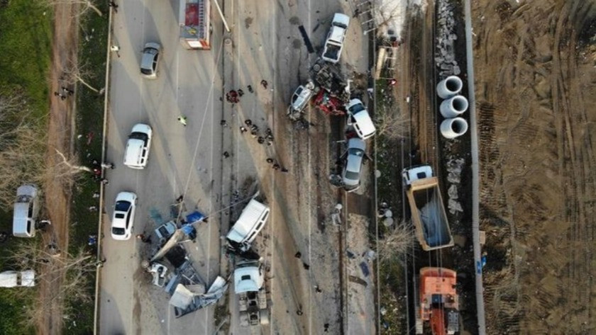
[(473, 1), (487, 334), (594, 334), (594, 1)]

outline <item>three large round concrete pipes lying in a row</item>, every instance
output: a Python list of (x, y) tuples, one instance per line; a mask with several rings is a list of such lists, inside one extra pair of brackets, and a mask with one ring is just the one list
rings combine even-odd
[(439, 81), (436, 86), (436, 93), (443, 98), (441, 103), (441, 135), (448, 139), (453, 139), (464, 135), (468, 131), (468, 123), (464, 118), (460, 118), (468, 110), (468, 99), (459, 93), (463, 88), (463, 82), (458, 76), (448, 76)]

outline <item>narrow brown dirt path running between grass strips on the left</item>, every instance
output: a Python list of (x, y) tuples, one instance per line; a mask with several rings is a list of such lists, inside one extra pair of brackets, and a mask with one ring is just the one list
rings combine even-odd
[[(77, 5), (57, 4), (54, 7), (54, 40), (53, 62), (50, 70), (50, 118), (48, 125), (48, 166), (60, 161), (55, 149), (62, 153), (72, 153), (72, 110), (74, 99), (61, 101), (53, 92), (60, 91), (59, 79), (63, 69), (70, 59), (77, 59), (77, 22), (75, 14)], [(57, 243), (58, 249), (64, 252), (68, 249), (68, 223), (70, 221), (70, 185), (65, 185), (53, 178), (45, 183), (45, 210), (52, 225), (43, 235), (44, 246), (50, 242)], [(52, 267), (57, 262), (53, 259), (48, 263)], [(46, 277), (40, 282), (40, 301), (46, 306), (45, 312), (37, 324), (38, 334), (62, 333), (63, 297), (60, 297), (62, 273), (55, 273), (55, 277)]]

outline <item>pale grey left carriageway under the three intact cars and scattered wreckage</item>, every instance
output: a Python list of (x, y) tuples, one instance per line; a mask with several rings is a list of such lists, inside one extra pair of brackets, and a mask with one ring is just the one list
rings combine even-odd
[[(184, 194), (187, 210), (214, 215), (198, 228), (196, 244), (187, 250), (199, 275), (210, 284), (219, 274), (219, 222), (221, 199), (222, 113), (221, 20), (214, 15), (212, 48), (185, 50), (178, 40), (178, 1), (121, 1), (114, 16), (107, 159), (116, 169), (107, 173), (106, 215), (101, 271), (101, 334), (208, 334), (213, 310), (206, 309), (175, 319), (167, 305), (169, 295), (150, 285), (140, 261), (150, 254), (149, 244), (134, 239), (149, 234), (170, 218), (170, 205)], [(158, 79), (143, 79), (139, 72), (145, 42), (159, 42), (162, 58)], [(188, 126), (177, 121), (186, 115)], [(126, 138), (136, 123), (153, 127), (148, 166), (123, 166)], [(116, 193), (138, 195), (133, 239), (114, 241), (110, 220)]]

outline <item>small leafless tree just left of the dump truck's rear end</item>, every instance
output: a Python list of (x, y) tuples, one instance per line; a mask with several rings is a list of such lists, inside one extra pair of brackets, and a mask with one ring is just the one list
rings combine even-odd
[(398, 257), (410, 252), (414, 243), (414, 231), (411, 225), (402, 222), (391, 232), (385, 234), (384, 239), (377, 242), (377, 254), (381, 263), (397, 261)]

